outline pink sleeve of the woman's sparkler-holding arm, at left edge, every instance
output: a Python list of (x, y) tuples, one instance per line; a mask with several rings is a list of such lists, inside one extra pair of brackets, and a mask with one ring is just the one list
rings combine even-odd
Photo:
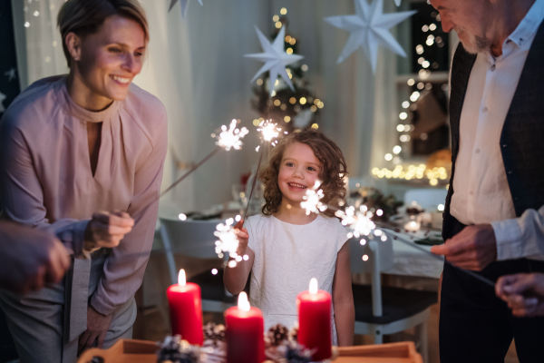
[(50, 223), (44, 207), (42, 185), (24, 133), (10, 113), (0, 122), (0, 202), (4, 218), (52, 231), (70, 254), (84, 258), (83, 237), (88, 221), (61, 219)]

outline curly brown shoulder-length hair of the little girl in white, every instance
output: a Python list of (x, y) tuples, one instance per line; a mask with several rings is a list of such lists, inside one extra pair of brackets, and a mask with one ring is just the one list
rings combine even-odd
[[(259, 172), (259, 178), (265, 186), (263, 214), (270, 215), (279, 211), (282, 199), (282, 193), (277, 182), (279, 166), (287, 146), (293, 142), (304, 143), (312, 149), (322, 165), (318, 179), (321, 182), (319, 188), (323, 190), (325, 196), (321, 201), (326, 205), (339, 207), (339, 202), (345, 198), (346, 193), (344, 177), (347, 176), (347, 170), (344, 155), (335, 142), (327, 138), (323, 133), (309, 128), (301, 132), (288, 134), (272, 149), (267, 167)], [(331, 209), (327, 209), (323, 213), (329, 217), (335, 215), (335, 211)]]

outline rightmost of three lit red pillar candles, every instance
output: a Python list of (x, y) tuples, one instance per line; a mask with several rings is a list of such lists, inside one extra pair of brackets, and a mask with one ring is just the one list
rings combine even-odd
[(317, 289), (317, 280), (310, 281), (310, 289), (296, 297), (298, 307), (298, 342), (315, 349), (312, 360), (331, 358), (331, 294)]

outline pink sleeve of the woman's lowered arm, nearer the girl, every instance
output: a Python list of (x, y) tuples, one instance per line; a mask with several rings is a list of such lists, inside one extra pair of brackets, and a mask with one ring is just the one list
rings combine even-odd
[[(143, 273), (150, 258), (155, 225), (159, 211), (162, 169), (168, 148), (166, 110), (156, 125), (157, 137), (151, 154), (134, 177), (134, 194), (128, 213), (134, 219), (132, 231), (125, 235), (118, 247), (104, 264), (104, 274), (98, 289), (91, 298), (91, 305), (103, 315), (125, 303), (141, 286)], [(154, 201), (155, 200), (155, 201)]]

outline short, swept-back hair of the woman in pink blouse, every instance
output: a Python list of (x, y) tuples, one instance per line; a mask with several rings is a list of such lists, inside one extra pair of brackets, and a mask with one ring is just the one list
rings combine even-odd
[(84, 37), (97, 33), (104, 21), (112, 15), (131, 19), (141, 25), (145, 43), (149, 41), (147, 17), (138, 0), (68, 0), (61, 7), (57, 25), (61, 30), (64, 56), (69, 67), (72, 56), (66, 46), (66, 35), (74, 33)]

